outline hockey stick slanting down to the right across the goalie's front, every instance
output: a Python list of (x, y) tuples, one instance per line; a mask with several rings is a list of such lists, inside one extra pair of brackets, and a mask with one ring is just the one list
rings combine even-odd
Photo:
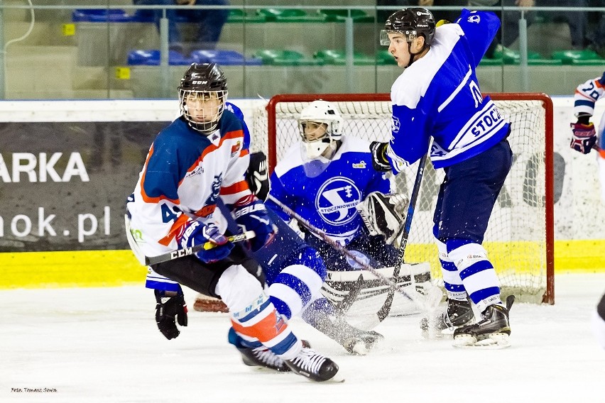
[[(310, 223), (306, 219), (302, 218), (302, 216), (300, 216), (300, 214), (293, 211), (293, 209), (290, 209), (290, 207), (286, 206), (281, 201), (279, 201), (278, 199), (273, 197), (273, 195), (268, 194), (267, 199), (268, 200), (270, 199), (271, 201), (273, 201), (275, 204), (277, 204), (279, 206), (280, 209), (283, 210), (283, 212), (285, 214), (288, 214), (288, 216), (290, 216), (290, 218), (298, 221), (302, 226), (304, 226), (309, 231), (314, 233), (325, 243), (328, 243), (330, 246), (332, 246), (332, 248), (336, 249), (339, 253), (341, 253), (344, 256), (347, 256), (347, 258), (350, 258), (351, 260), (353, 260), (364, 270), (367, 270), (367, 271), (371, 272), (373, 275), (375, 275), (378, 278), (378, 280), (380, 280), (381, 282), (383, 282), (384, 285), (387, 285), (390, 288), (390, 292), (393, 292), (393, 293), (399, 292), (404, 297), (406, 297), (406, 298), (410, 299), (411, 301), (415, 302), (416, 304), (418, 304), (418, 306), (421, 307), (423, 309), (423, 311), (425, 310), (425, 302), (423, 301), (423, 297), (420, 295), (419, 292), (415, 291), (415, 289), (413, 290), (413, 292), (406, 292), (404, 289), (401, 289), (400, 287), (397, 286), (396, 282), (394, 282), (393, 280), (391, 280), (387, 277), (384, 277), (381, 272), (378, 272), (378, 270), (376, 270), (375, 267), (372, 267), (371, 265), (368, 265), (368, 264), (362, 262), (361, 260), (359, 260), (359, 258), (356, 255), (354, 255), (349, 250), (344, 248), (344, 246), (337, 243), (337, 241), (334, 241), (332, 238), (329, 238), (329, 236), (327, 236), (325, 233), (323, 233), (323, 231), (321, 231), (319, 228), (316, 228), (315, 226), (313, 226), (312, 223)], [(395, 270), (395, 269), (393, 269), (393, 270)], [(393, 302), (393, 297), (391, 296), (391, 303), (392, 302)], [(391, 309), (391, 303), (389, 303), (389, 306), (388, 306), (389, 310)], [(381, 317), (378, 315), (378, 319), (379, 319), (379, 321), (383, 321), (384, 317), (381, 319)]]

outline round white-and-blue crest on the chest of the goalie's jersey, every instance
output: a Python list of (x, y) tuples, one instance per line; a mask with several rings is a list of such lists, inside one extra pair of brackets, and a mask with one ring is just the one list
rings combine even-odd
[(361, 192), (347, 177), (332, 177), (317, 191), (315, 209), (322, 219), (342, 226), (357, 216), (355, 206), (361, 201)]

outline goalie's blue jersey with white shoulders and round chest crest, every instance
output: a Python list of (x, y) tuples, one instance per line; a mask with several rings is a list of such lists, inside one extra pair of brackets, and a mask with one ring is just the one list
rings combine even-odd
[[(293, 145), (271, 175), (270, 194), (334, 241), (347, 245), (364, 225), (355, 206), (371, 192), (390, 192), (391, 182), (374, 170), (369, 143), (360, 138), (343, 136), (329, 164), (311, 173), (315, 164), (322, 162), (305, 162), (300, 143)], [(271, 199), (266, 204), (288, 220)]]

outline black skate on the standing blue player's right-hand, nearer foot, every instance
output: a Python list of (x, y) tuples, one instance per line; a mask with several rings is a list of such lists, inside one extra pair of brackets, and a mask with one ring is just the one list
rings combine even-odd
[(513, 295), (506, 298), (506, 307), (490, 305), (481, 314), (482, 318), (476, 324), (459, 327), (454, 331), (454, 346), (456, 347), (488, 347), (506, 348), (509, 345), (511, 325), (508, 322), (508, 311), (515, 302)]

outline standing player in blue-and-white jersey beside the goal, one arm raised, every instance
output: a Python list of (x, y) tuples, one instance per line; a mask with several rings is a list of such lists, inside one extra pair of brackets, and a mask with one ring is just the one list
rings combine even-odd
[[(371, 144), (373, 162), (398, 173), (429, 152), (433, 166), (445, 170), (433, 233), (448, 298), (440, 329), (456, 327), (454, 346), (504, 347), (511, 333), (514, 297), (506, 306), (501, 301), (481, 245), (512, 163), (509, 123), (481, 95), (475, 74), (499, 26), (494, 13), (463, 10), (457, 23), (436, 28), (430, 11), (409, 8), (393, 13), (381, 31), (381, 45), (405, 70), (391, 87), (391, 140)], [(467, 298), (481, 312), (477, 323)]]

